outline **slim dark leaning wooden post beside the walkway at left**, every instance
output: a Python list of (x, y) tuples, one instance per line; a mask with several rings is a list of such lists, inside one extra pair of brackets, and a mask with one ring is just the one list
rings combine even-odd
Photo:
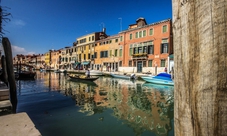
[(12, 50), (11, 44), (8, 38), (2, 38), (2, 45), (5, 52), (6, 59), (6, 69), (8, 74), (9, 88), (10, 88), (10, 101), (12, 103), (12, 112), (16, 113), (17, 109), (17, 89), (15, 82), (15, 75), (13, 70), (13, 59), (12, 59)]

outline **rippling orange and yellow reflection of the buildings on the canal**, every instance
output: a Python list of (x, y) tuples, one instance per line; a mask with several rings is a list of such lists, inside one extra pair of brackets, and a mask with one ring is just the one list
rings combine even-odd
[[(171, 86), (110, 77), (100, 77), (95, 82), (78, 82), (69, 80), (63, 73), (53, 72), (38, 72), (37, 80), (44, 84), (43, 90), (59, 91), (73, 98), (75, 105), (80, 107), (79, 112), (86, 116), (112, 109), (113, 116), (133, 128), (136, 135), (144, 132), (172, 135), (169, 134), (169, 131), (173, 131), (171, 120), (174, 102)], [(99, 120), (105, 119), (100, 117)]]

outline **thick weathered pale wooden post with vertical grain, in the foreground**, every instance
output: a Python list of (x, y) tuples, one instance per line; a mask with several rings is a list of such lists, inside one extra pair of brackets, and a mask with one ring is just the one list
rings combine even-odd
[(175, 136), (226, 136), (227, 1), (172, 6)]

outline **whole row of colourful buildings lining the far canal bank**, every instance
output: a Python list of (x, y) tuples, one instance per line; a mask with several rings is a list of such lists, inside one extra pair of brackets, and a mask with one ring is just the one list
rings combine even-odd
[(163, 72), (173, 66), (171, 19), (147, 24), (138, 18), (127, 30), (108, 36), (106, 29), (76, 39), (70, 47), (45, 54), (20, 55), (14, 64), (24, 63), (37, 69), (96, 69), (120, 72)]

